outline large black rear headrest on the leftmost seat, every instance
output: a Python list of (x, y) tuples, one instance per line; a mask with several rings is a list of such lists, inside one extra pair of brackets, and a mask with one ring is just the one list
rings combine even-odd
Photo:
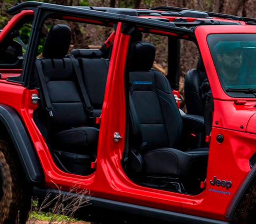
[(70, 46), (71, 30), (64, 24), (52, 26), (44, 42), (44, 58), (65, 58)]

